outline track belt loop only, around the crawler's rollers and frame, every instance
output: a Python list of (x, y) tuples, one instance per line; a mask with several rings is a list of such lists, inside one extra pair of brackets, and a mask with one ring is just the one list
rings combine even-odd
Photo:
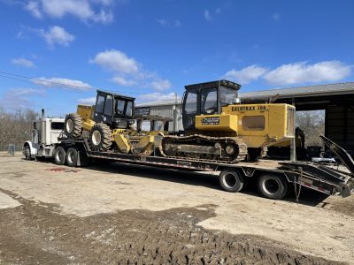
[[(235, 141), (235, 143), (238, 145), (239, 155), (237, 156), (236, 159), (231, 160), (231, 161), (227, 161), (224, 159), (198, 159), (198, 158), (190, 158), (190, 157), (186, 157), (186, 156), (165, 155), (164, 145), (165, 145), (165, 140), (168, 140), (168, 139), (178, 140), (178, 142), (183, 142), (183, 141), (190, 142), (190, 140), (203, 139), (203, 140), (211, 141), (213, 143), (231, 140), (231, 141)], [(205, 136), (205, 135), (201, 135), (201, 134), (195, 134), (195, 135), (189, 135), (189, 136), (165, 136), (161, 140), (159, 150), (160, 150), (160, 153), (162, 155), (164, 155), (165, 157), (176, 158), (176, 159), (188, 159), (188, 160), (194, 160), (194, 161), (214, 162), (214, 163), (218, 163), (218, 162), (219, 163), (238, 163), (238, 162), (242, 162), (246, 158), (246, 156), (248, 155), (247, 145), (244, 142), (244, 140), (242, 140), (240, 137), (212, 137), (212, 136)]]

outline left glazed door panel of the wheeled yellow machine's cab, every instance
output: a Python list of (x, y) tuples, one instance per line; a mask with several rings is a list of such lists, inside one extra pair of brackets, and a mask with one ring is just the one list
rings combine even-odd
[(113, 95), (98, 93), (96, 97), (96, 107), (94, 121), (96, 123), (112, 124), (113, 116)]

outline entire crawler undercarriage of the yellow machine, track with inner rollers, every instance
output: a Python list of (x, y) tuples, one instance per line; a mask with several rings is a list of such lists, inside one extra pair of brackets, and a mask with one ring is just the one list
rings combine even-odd
[(239, 137), (205, 135), (165, 136), (160, 145), (162, 155), (212, 162), (237, 163), (245, 160), (247, 146)]

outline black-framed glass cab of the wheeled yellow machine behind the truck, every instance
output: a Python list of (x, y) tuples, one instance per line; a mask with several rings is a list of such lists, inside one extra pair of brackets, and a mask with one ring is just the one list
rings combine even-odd
[(133, 125), (135, 98), (97, 90), (93, 120), (112, 128), (127, 129)]

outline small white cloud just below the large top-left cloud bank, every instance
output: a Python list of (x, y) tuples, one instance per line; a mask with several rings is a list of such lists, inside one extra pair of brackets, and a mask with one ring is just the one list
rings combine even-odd
[(37, 31), (42, 35), (45, 42), (47, 42), (50, 47), (54, 47), (55, 44), (68, 46), (70, 42), (75, 40), (75, 36), (66, 32), (63, 27), (54, 26), (50, 27), (48, 31), (44, 31), (43, 29)]

